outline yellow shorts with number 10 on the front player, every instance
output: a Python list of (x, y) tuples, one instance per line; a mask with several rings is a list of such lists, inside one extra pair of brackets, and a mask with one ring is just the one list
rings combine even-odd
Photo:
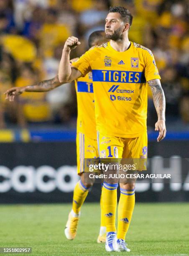
[(137, 170), (146, 170), (148, 151), (147, 132), (137, 138), (120, 138), (104, 135), (97, 131), (97, 145), (100, 159), (118, 159), (121, 162), (127, 159), (136, 163)]

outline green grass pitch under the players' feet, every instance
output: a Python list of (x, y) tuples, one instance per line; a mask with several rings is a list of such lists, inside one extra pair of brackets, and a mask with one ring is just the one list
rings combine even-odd
[[(77, 236), (66, 240), (64, 226), (70, 209), (71, 204), (0, 205), (0, 247), (32, 247), (32, 255), (38, 256), (128, 254), (107, 253), (104, 244), (97, 244), (97, 203), (83, 205)], [(136, 203), (126, 240), (130, 256), (189, 255), (189, 204)]]

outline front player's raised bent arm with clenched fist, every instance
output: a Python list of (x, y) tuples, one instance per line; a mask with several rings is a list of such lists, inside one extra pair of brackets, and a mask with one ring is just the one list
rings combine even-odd
[(77, 37), (71, 36), (66, 40), (59, 64), (59, 81), (62, 83), (72, 82), (82, 76), (82, 73), (70, 66), (70, 51), (81, 43)]

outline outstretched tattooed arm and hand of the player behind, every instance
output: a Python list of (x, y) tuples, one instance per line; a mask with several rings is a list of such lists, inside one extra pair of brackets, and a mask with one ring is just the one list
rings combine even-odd
[(6, 100), (13, 101), (16, 95), (20, 95), (23, 92), (48, 92), (54, 88), (60, 86), (62, 83), (59, 82), (59, 77), (43, 80), (37, 84), (22, 86), (22, 87), (12, 87), (7, 90), (4, 94), (6, 95)]

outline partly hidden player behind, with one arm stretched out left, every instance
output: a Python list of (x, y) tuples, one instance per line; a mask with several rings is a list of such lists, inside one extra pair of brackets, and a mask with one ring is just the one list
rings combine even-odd
[[(89, 36), (89, 47), (100, 45), (108, 40), (105, 38), (104, 31), (95, 31)], [(78, 58), (77, 58), (78, 59)], [(70, 61), (73, 63), (77, 59)], [(58, 75), (53, 79), (41, 81), (38, 84), (13, 87), (5, 92), (6, 99), (14, 100), (16, 95), (23, 92), (47, 92), (59, 87), (62, 82), (59, 82)], [(80, 209), (85, 198), (92, 187), (91, 183), (84, 182), (84, 159), (93, 159), (99, 157), (97, 150), (97, 131), (95, 123), (95, 106), (92, 85), (92, 73), (89, 72), (85, 77), (75, 80), (75, 88), (77, 92), (77, 173), (81, 177), (74, 188), (72, 211), (69, 213), (69, 219), (66, 223), (65, 235), (69, 240), (73, 240), (77, 233), (77, 225), (80, 217)], [(101, 223), (100, 233), (97, 238), (97, 243), (104, 243), (106, 238), (105, 213), (101, 205)]]

